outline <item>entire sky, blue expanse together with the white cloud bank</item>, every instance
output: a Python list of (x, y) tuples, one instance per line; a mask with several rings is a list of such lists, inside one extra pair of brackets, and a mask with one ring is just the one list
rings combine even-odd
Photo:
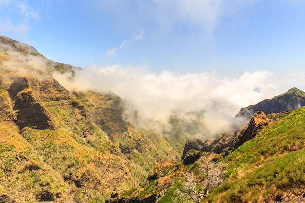
[(304, 11), (305, 0), (0, 0), (0, 35), (84, 68), (54, 74), (68, 90), (114, 92), (147, 119), (205, 110), (217, 129), (305, 91)]

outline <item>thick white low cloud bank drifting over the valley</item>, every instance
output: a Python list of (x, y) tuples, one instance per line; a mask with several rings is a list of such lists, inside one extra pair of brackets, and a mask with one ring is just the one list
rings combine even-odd
[(149, 127), (148, 121), (153, 121), (152, 125), (168, 127), (172, 115), (183, 119), (196, 115), (200, 117), (196, 121), (211, 134), (228, 128), (242, 107), (288, 90), (270, 82), (273, 74), (267, 71), (223, 78), (216, 73), (155, 74), (142, 67), (113, 65), (76, 70), (72, 80), (69, 76), (54, 73), (69, 91), (94, 90), (119, 95), (127, 101), (129, 110), (137, 111), (139, 125)]

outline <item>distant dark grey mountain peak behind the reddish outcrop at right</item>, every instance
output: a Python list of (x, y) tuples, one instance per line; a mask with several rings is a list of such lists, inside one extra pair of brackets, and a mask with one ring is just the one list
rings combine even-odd
[(250, 105), (241, 109), (237, 113), (237, 117), (251, 118), (255, 112), (262, 110), (266, 114), (279, 113), (296, 109), (305, 106), (305, 92), (291, 88), (286, 93), (273, 97), (272, 99), (265, 99), (255, 105)]

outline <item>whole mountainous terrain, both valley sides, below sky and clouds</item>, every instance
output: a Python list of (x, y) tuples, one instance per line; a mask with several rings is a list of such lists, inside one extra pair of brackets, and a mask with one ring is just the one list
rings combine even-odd
[(118, 95), (53, 77), (77, 69), (0, 37), (0, 202), (305, 202), (304, 92), (245, 108), (245, 128), (208, 139), (204, 111), (173, 113), (161, 134), (128, 122)]

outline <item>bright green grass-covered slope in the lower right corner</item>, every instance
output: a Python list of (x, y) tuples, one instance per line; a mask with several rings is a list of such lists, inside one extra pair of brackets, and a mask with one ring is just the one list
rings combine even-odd
[(305, 108), (301, 108), (273, 122), (226, 157), (227, 181), (207, 201), (268, 202), (278, 197), (293, 201), (305, 189), (304, 147)]

